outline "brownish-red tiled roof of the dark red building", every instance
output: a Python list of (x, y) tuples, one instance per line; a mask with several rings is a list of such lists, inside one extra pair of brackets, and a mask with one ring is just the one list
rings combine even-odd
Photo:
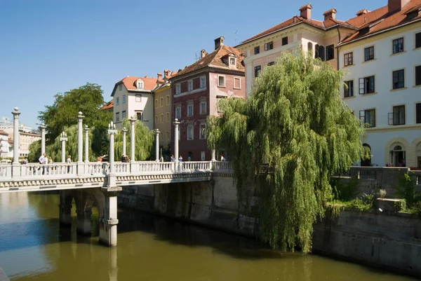
[(205, 57), (202, 57), (200, 60), (194, 62), (193, 64), (190, 64), (185, 69), (178, 71), (177, 74), (173, 75), (173, 78), (181, 76), (183, 74), (187, 74), (192, 71), (203, 69), (205, 67), (229, 69), (228, 65), (225, 63), (225, 60), (224, 60), (225, 58), (227, 58), (229, 54), (234, 54), (237, 58), (236, 70), (245, 71), (245, 68), (243, 66), (242, 53), (234, 47), (222, 45), (218, 49), (214, 50), (212, 53), (206, 55)]

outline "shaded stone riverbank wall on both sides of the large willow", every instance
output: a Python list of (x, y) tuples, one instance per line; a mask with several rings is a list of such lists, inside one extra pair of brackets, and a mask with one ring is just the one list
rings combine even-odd
[[(250, 208), (255, 196), (250, 189)], [(126, 186), (119, 207), (255, 236), (255, 219), (239, 212), (233, 178)], [(241, 209), (241, 208), (240, 208)], [(344, 210), (314, 226), (313, 252), (421, 277), (421, 219), (409, 214)]]

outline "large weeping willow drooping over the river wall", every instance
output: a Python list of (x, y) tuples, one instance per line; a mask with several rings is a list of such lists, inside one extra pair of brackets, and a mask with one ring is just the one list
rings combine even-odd
[(340, 99), (342, 78), (319, 59), (283, 53), (248, 99), (221, 100), (224, 114), (208, 117), (208, 146), (229, 152), (240, 206), (253, 182), (258, 235), (274, 248), (310, 252), (313, 224), (332, 198), (331, 175), (364, 153), (364, 129)]

